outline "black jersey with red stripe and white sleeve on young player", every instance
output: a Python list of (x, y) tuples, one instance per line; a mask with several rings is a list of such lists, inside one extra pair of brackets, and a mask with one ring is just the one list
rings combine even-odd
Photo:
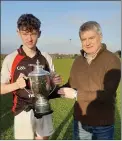
[[(2, 81), (1, 83), (7, 82), (7, 79), (10, 79), (11, 83), (16, 82), (17, 78), (19, 77), (20, 73), (25, 74), (28, 76), (28, 74), (33, 70), (32, 66), (29, 66), (29, 64), (36, 64), (37, 59), (40, 62), (40, 65), (44, 66), (44, 69), (46, 71), (50, 71), (50, 66), (47, 59), (41, 54), (41, 52), (37, 49), (37, 53), (33, 58), (28, 57), (22, 46), (14, 52), (13, 54), (9, 55), (11, 56), (12, 60), (4, 61), (3, 62), (3, 69), (2, 71)], [(9, 58), (9, 57), (8, 57)], [(11, 63), (11, 65), (9, 63)], [(9, 66), (10, 65), (10, 66)], [(6, 78), (5, 76), (5, 68), (9, 68), (8, 72), (10, 73)], [(5, 80), (6, 79), (6, 80)], [(30, 94), (25, 89), (18, 89), (13, 92), (13, 107), (12, 111), (16, 114), (20, 113), (22, 110), (24, 110), (26, 105), (32, 104), (33, 97), (30, 96)]]

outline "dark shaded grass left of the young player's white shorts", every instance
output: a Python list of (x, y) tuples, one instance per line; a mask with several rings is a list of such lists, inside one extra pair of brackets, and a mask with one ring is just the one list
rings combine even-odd
[(5, 137), (7, 130), (13, 126), (14, 116), (11, 112), (11, 107), (12, 95), (0, 96), (0, 139), (3, 139), (3, 135)]

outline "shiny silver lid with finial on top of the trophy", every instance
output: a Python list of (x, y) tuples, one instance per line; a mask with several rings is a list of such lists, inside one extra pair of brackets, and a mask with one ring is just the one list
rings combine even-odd
[(39, 60), (36, 61), (35, 64), (30, 64), (29, 66), (33, 66), (34, 70), (28, 74), (28, 76), (44, 76), (44, 75), (50, 75), (48, 71), (45, 71), (43, 68), (43, 65), (39, 65)]

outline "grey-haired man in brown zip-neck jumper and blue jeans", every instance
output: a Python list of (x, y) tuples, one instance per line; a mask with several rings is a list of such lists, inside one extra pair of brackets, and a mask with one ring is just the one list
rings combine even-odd
[(112, 140), (116, 90), (120, 82), (119, 58), (102, 44), (100, 25), (89, 21), (79, 31), (81, 56), (73, 63), (68, 87), (58, 93), (76, 98), (74, 140)]

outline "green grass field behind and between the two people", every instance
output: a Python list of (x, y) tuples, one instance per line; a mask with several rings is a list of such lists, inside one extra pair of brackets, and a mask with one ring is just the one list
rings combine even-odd
[[(54, 60), (56, 71), (63, 76), (65, 83), (69, 76), (72, 59), (57, 59)], [(55, 128), (54, 134), (50, 137), (51, 140), (71, 140), (73, 130), (73, 104), (70, 99), (53, 99), (50, 100), (53, 113), (53, 124)], [(12, 105), (12, 96), (7, 94), (1, 96), (0, 104), (0, 131), (2, 140), (14, 139), (13, 137), (13, 116), (10, 112)], [(116, 103), (116, 122), (115, 122), (115, 140), (121, 139), (121, 120), (120, 120), (120, 88), (117, 91)]]

